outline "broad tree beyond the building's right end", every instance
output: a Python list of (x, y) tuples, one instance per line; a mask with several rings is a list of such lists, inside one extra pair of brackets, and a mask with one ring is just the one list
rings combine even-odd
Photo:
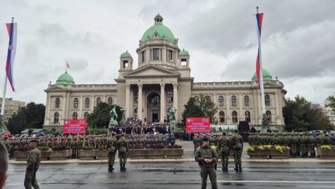
[(330, 130), (332, 125), (323, 114), (321, 106), (303, 97), (294, 97), (294, 100), (286, 99), (286, 107), (283, 108), (287, 131), (310, 131), (313, 129)]

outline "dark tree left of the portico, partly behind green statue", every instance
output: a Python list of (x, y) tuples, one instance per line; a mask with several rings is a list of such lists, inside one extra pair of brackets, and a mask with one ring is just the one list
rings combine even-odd
[(109, 112), (114, 108), (117, 113), (117, 123), (122, 120), (124, 110), (119, 105), (108, 105), (108, 103), (99, 103), (91, 114), (87, 117), (87, 124), (89, 127), (108, 128), (111, 116)]

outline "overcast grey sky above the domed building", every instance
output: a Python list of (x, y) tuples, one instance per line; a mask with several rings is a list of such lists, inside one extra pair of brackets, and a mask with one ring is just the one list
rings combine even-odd
[[(262, 62), (287, 90), (324, 104), (335, 92), (335, 1), (0, 0), (0, 94), (8, 31), (18, 23), (14, 85), (6, 97), (46, 103), (49, 81), (68, 73), (76, 84), (115, 84), (119, 56), (134, 58), (144, 31), (163, 24), (189, 52), (195, 82), (251, 81), (255, 73), (256, 7), (264, 12)], [(1, 26), (2, 25), (2, 26)], [(1, 63), (2, 62), (2, 63)]]

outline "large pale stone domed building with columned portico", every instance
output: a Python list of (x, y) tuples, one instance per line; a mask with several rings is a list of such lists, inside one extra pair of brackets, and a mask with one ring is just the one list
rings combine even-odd
[[(219, 124), (261, 124), (262, 103), (256, 75), (251, 81), (195, 83), (190, 55), (179, 49), (178, 39), (163, 25), (161, 15), (155, 16), (154, 25), (144, 32), (136, 52), (137, 68), (133, 68), (134, 60), (128, 51), (120, 56), (116, 84), (78, 85), (67, 72), (58, 77), (56, 84), (49, 84), (45, 90), (45, 127), (62, 125), (65, 119), (86, 118), (100, 102), (121, 106), (126, 110), (126, 118), (146, 118), (150, 122), (168, 119), (170, 105), (174, 105), (176, 120), (180, 122), (189, 97), (198, 99), (200, 94), (208, 95), (218, 105), (215, 117)], [(265, 69), (263, 75), (266, 117), (271, 125), (283, 129), (286, 90)]]

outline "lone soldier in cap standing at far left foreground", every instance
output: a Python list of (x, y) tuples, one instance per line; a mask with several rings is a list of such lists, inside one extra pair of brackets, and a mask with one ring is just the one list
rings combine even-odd
[(31, 189), (32, 186), (35, 189), (39, 189), (36, 172), (41, 162), (41, 151), (37, 148), (38, 140), (30, 140), (29, 145), (32, 149), (27, 159), (27, 168), (25, 168), (25, 188)]

